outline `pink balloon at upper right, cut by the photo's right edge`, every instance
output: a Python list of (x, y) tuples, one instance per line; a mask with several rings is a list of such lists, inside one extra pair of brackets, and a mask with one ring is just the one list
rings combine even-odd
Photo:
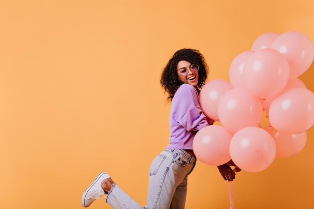
[(288, 61), (290, 78), (303, 74), (314, 59), (313, 43), (305, 34), (297, 31), (281, 34), (271, 48), (280, 52)]

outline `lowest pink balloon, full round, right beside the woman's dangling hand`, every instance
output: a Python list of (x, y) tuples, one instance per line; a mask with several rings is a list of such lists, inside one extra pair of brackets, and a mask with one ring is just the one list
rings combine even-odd
[(276, 156), (276, 144), (272, 136), (258, 127), (245, 127), (235, 133), (229, 150), (233, 162), (248, 172), (266, 169)]

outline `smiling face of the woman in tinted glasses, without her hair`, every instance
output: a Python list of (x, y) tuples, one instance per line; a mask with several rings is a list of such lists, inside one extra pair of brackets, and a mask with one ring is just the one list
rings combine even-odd
[[(190, 84), (194, 87), (197, 86), (199, 82), (199, 72), (192, 72), (191, 63), (185, 60), (181, 60), (177, 65), (177, 73), (179, 76), (179, 80), (183, 83)], [(180, 72), (188, 71), (186, 76), (183, 76)]]

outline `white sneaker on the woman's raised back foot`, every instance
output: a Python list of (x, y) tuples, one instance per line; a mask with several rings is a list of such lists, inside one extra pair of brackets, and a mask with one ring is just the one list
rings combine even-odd
[(93, 201), (95, 201), (105, 193), (100, 184), (101, 181), (107, 178), (110, 178), (110, 176), (106, 172), (101, 172), (87, 187), (82, 196), (83, 207), (88, 207), (89, 205), (91, 205), (91, 203), (93, 203)]

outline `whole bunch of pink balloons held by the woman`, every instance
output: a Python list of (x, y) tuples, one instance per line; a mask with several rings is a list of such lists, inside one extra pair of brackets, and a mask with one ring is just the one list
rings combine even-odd
[[(314, 47), (303, 33), (265, 33), (251, 50), (234, 58), (229, 81), (204, 85), (204, 114), (220, 125), (201, 129), (193, 149), (200, 161), (221, 165), (229, 160), (249, 172), (266, 169), (277, 157), (299, 153), (314, 125), (314, 94), (297, 77), (308, 70)], [(262, 128), (266, 113), (269, 123)]]

